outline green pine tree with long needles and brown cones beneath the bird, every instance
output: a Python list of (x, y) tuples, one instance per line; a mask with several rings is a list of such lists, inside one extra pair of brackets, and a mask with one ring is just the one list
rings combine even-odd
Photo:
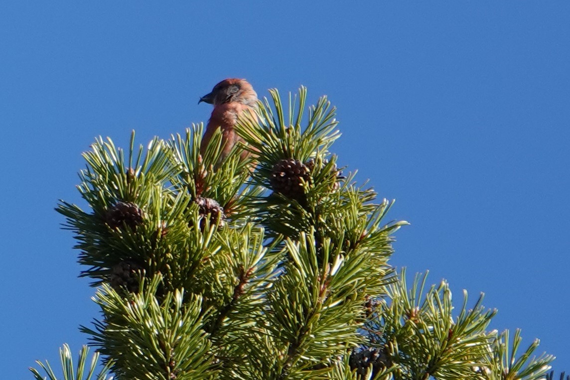
[[(531, 357), (538, 340), (517, 356), (519, 330), (489, 331), (482, 295), (454, 306), (445, 281), (409, 287), (388, 263), (408, 223), (385, 222), (393, 202), (341, 175), (335, 108), (321, 97), (306, 115), (305, 88), (288, 103), (272, 90), (225, 160), (219, 133), (200, 155), (202, 125), (84, 153), (89, 209), (57, 210), (97, 287), (101, 315), (82, 326), (97, 380), (546, 379), (553, 357)], [(63, 378), (86, 360), (84, 347), (74, 371), (64, 346)]]

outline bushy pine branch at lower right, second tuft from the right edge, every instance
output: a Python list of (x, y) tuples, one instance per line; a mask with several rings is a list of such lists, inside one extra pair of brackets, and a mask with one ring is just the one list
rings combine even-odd
[(484, 366), (493, 334), (486, 332), (495, 311), (482, 307), (482, 296), (467, 310), (467, 295), (459, 315), (452, 314), (451, 291), (442, 281), (422, 299), (426, 276), (416, 276), (408, 291), (405, 271), (389, 285), (390, 304), (381, 304), (376, 320), (367, 323), (370, 343), (384, 350), (384, 362), (396, 365), (395, 379), (472, 378), (474, 366)]

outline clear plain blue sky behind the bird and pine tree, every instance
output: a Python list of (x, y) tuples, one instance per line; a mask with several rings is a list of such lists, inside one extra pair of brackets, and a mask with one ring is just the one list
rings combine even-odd
[(570, 2), (0, 2), (0, 363), (31, 379), (97, 316), (59, 229), (80, 153), (206, 121), (225, 77), (308, 87), (339, 111), (339, 164), (396, 198), (392, 263), (430, 270), (491, 328), (570, 371)]

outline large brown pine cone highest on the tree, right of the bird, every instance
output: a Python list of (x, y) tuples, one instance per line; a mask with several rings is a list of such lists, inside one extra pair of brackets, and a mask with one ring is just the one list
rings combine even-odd
[(310, 169), (294, 158), (280, 160), (273, 166), (271, 188), (275, 193), (283, 194), (290, 199), (302, 199), (305, 194), (301, 178), (310, 180)]

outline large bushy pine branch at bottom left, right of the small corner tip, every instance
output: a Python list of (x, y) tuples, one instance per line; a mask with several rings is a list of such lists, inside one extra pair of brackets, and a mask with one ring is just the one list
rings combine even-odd
[(201, 297), (175, 291), (159, 303), (154, 294), (160, 281), (143, 278), (139, 293), (127, 298), (103, 284), (95, 298), (103, 320), (95, 321), (94, 330), (82, 326), (83, 332), (119, 378), (214, 379)]

